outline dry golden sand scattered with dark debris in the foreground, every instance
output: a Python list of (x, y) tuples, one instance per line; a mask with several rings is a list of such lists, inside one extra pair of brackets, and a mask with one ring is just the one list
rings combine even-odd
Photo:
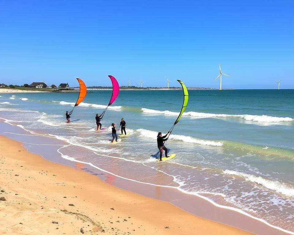
[(0, 141), (0, 234), (252, 234)]

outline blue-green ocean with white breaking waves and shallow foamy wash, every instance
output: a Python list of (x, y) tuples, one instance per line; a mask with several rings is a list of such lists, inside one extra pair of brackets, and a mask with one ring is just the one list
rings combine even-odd
[[(165, 143), (176, 157), (165, 162), (156, 162), (156, 136), (174, 124), (183, 91), (121, 90), (101, 122), (106, 131), (95, 131), (95, 116), (111, 91), (88, 91), (67, 124), (65, 112), (77, 96), (2, 93), (0, 118), (66, 141), (58, 152), (69, 161), (201, 195), (294, 233), (294, 90), (189, 90), (185, 113)], [(111, 123), (118, 128), (121, 118), (130, 135), (111, 144)]]

